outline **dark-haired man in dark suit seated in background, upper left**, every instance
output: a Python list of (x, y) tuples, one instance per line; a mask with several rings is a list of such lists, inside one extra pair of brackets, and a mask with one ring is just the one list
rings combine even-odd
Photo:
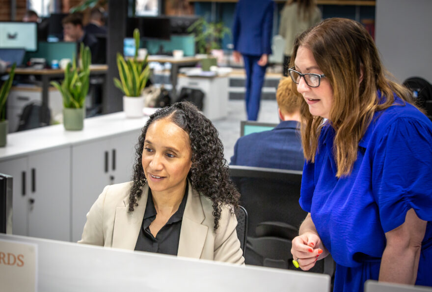
[[(86, 33), (82, 28), (81, 16), (77, 13), (70, 14), (63, 18), (63, 40), (65, 42), (78, 42), (83, 43), (84, 46), (90, 48), (91, 52), (91, 62), (95, 63), (98, 59), (98, 40), (96, 37), (90, 33)], [(78, 45), (78, 52), (80, 51), (80, 46)]]

